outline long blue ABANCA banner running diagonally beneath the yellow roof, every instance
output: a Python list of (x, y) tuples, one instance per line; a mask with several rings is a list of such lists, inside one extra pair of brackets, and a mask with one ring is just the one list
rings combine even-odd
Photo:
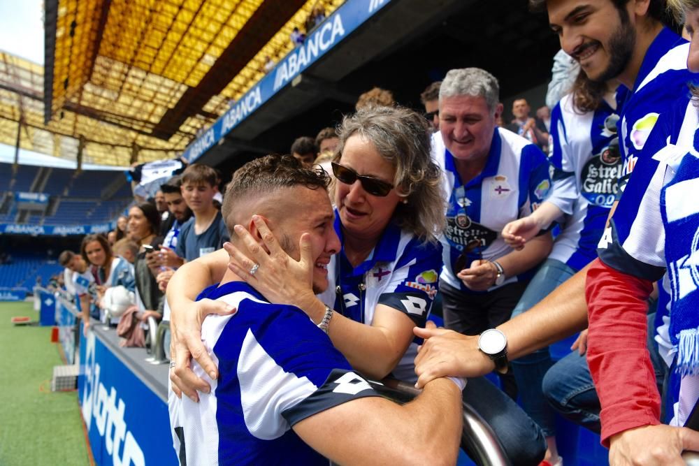
[(190, 144), (182, 156), (192, 163), (226, 136), (248, 115), (257, 110), (280, 89), (302, 73), (308, 66), (338, 45), (354, 29), (358, 28), (391, 0), (347, 0), (326, 18), (303, 45), (289, 52), (275, 68), (238, 100), (231, 110), (202, 136)]

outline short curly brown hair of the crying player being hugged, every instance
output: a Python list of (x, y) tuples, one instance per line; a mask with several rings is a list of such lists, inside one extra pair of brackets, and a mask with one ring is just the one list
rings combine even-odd
[(303, 168), (301, 162), (289, 155), (270, 154), (245, 163), (233, 173), (226, 186), (221, 214), (231, 238), (236, 219), (233, 215), (238, 205), (246, 199), (269, 196), (281, 188), (296, 186), (309, 189), (327, 189), (330, 177), (322, 168)]

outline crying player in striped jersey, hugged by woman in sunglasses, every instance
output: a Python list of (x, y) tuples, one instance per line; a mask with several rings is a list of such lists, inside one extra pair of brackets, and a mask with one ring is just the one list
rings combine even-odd
[[(266, 156), (236, 172), (222, 207), (231, 233), (245, 228), (259, 238), (257, 214), (289, 256), (315, 263), (309, 280), (316, 292), (327, 288), (326, 267), (340, 248), (326, 184), (324, 173), (290, 157)], [(323, 323), (316, 326), (296, 307), (268, 303), (231, 270), (200, 298), (238, 311), (203, 323), (219, 377), (210, 379), (196, 363), (193, 369), (210, 393), (200, 393), (199, 403), (170, 393), (182, 464), (456, 461), (461, 393), (453, 381), (437, 380), (401, 407), (352, 371)]]

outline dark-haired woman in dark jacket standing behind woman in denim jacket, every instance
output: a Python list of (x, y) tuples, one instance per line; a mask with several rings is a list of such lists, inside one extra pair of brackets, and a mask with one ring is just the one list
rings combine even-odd
[(163, 242), (163, 238), (157, 236), (159, 228), (160, 213), (154, 204), (143, 202), (129, 209), (129, 237), (140, 247), (134, 268), (138, 307), (143, 311), (139, 318), (143, 321), (149, 316), (156, 319), (162, 316), (163, 293), (155, 280), (159, 269), (149, 268), (145, 257)]

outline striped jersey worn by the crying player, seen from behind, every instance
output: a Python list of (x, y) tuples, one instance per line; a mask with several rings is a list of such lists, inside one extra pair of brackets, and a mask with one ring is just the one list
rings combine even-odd
[(204, 320), (202, 340), (219, 378), (211, 380), (195, 362), (192, 370), (210, 384), (210, 393), (200, 393), (199, 403), (169, 396), (180, 458), (188, 466), (327, 465), (291, 427), (377, 393), (298, 308), (267, 303), (243, 282), (212, 286), (201, 298), (222, 300), (238, 312)]

